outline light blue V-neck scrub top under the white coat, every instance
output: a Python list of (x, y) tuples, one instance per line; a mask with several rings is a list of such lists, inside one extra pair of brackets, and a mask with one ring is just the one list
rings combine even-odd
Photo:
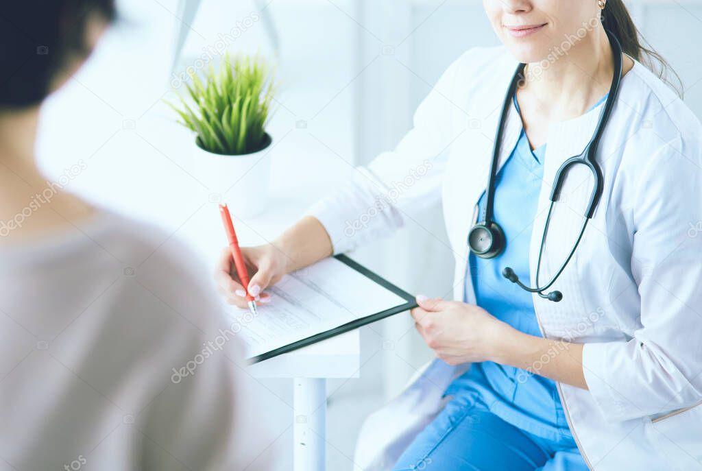
[[(607, 95), (594, 107), (605, 98)], [(516, 98), (515, 107), (518, 112)], [(542, 145), (532, 151), (522, 129), (515, 149), (496, 176), (494, 218), (505, 233), (505, 250), (491, 259), (477, 258), (471, 253), (468, 263), (477, 305), (515, 329), (538, 337), (541, 331), (531, 293), (505, 279), (502, 270), (512, 267), (519, 279), (530, 279), (529, 243), (541, 191), (545, 150), (546, 145)], [(483, 192), (480, 214), (484, 199)], [(483, 361), (472, 364), (470, 370), (449, 385), (445, 394), (485, 407), (505, 422), (553, 444), (576, 447), (556, 383), (549, 378)]]

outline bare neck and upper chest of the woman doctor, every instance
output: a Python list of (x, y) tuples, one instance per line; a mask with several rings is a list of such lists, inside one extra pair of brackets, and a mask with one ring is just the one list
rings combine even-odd
[[(625, 55), (624, 73), (631, 67), (633, 61)], [(563, 110), (561, 119), (582, 114), (609, 91), (614, 74), (604, 27), (592, 29), (568, 51), (552, 50), (548, 59), (527, 64), (525, 72), (527, 83), (519, 95), (530, 95), (542, 106)]]

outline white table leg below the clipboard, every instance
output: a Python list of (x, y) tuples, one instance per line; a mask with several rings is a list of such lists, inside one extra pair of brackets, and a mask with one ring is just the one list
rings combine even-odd
[(293, 470), (323, 471), (326, 461), (326, 380), (294, 378)]

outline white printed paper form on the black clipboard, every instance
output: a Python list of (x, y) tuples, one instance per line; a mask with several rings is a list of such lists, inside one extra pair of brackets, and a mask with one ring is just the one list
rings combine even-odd
[(407, 301), (336, 258), (286, 275), (267, 288), (270, 303), (257, 303), (258, 316), (230, 310), (232, 330), (246, 357), (270, 352)]

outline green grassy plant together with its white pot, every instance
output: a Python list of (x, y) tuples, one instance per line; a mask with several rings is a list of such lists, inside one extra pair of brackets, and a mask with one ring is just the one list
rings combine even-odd
[(171, 105), (180, 124), (196, 134), (195, 171), (235, 214), (251, 217), (267, 204), (270, 175), (266, 126), (274, 80), (260, 56), (226, 54), (216, 71), (190, 73), (187, 93)]

